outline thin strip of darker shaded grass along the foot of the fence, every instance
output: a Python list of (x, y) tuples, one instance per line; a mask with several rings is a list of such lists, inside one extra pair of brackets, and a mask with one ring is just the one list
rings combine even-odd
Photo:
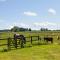
[[(33, 43), (33, 44), (25, 46), (24, 48), (31, 48), (33, 46), (40, 46), (40, 45), (49, 45), (49, 43)], [(17, 47), (17, 49), (24, 49), (24, 48), (21, 48), (20, 46)], [(9, 52), (9, 51), (12, 51), (12, 50), (17, 50), (17, 49), (14, 48), (14, 47), (11, 48), (11, 49), (3, 48), (0, 52)]]

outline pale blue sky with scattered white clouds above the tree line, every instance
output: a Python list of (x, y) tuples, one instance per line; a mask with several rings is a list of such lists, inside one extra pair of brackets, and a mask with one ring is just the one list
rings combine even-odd
[(60, 0), (0, 0), (0, 30), (13, 26), (60, 29)]

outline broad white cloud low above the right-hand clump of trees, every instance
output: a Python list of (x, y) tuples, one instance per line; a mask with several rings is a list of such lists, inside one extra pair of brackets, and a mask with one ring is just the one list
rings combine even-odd
[(37, 29), (40, 29), (40, 28), (48, 28), (51, 30), (57, 29), (57, 24), (53, 22), (40, 22), (40, 23), (36, 22), (36, 23), (33, 23), (33, 25)]

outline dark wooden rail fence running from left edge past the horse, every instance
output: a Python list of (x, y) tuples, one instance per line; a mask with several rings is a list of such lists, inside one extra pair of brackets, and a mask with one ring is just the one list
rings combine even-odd
[[(30, 42), (31, 44), (33, 43), (33, 41), (38, 41), (41, 40), (41, 38), (39, 36), (30, 36), (30, 37), (25, 37), (26, 39), (29, 38), (30, 40), (26, 40), (26, 42)], [(33, 38), (37, 38), (37, 39), (33, 39)], [(11, 46), (14, 46), (16, 49), (18, 48), (18, 45), (21, 45), (21, 48), (24, 47), (24, 44), (22, 43), (22, 41), (20, 39), (14, 40), (14, 38), (5, 38), (5, 39), (0, 39), (1, 40), (7, 40), (7, 44), (1, 44), (0, 46), (7, 46), (8, 50), (11, 49)], [(18, 41), (20, 42), (20, 44), (18, 44)]]

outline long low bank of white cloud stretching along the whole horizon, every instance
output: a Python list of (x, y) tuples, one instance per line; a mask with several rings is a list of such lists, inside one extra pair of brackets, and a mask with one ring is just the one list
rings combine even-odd
[[(2, 24), (2, 23), (1, 23)], [(5, 23), (1, 25), (0, 29), (11, 29), (14, 26), (23, 27), (23, 28), (31, 28), (32, 30), (40, 30), (40, 28), (48, 28), (51, 30), (60, 29), (60, 23), (54, 22), (35, 22), (35, 23), (24, 23), (24, 22), (12, 22), (12, 23)]]

